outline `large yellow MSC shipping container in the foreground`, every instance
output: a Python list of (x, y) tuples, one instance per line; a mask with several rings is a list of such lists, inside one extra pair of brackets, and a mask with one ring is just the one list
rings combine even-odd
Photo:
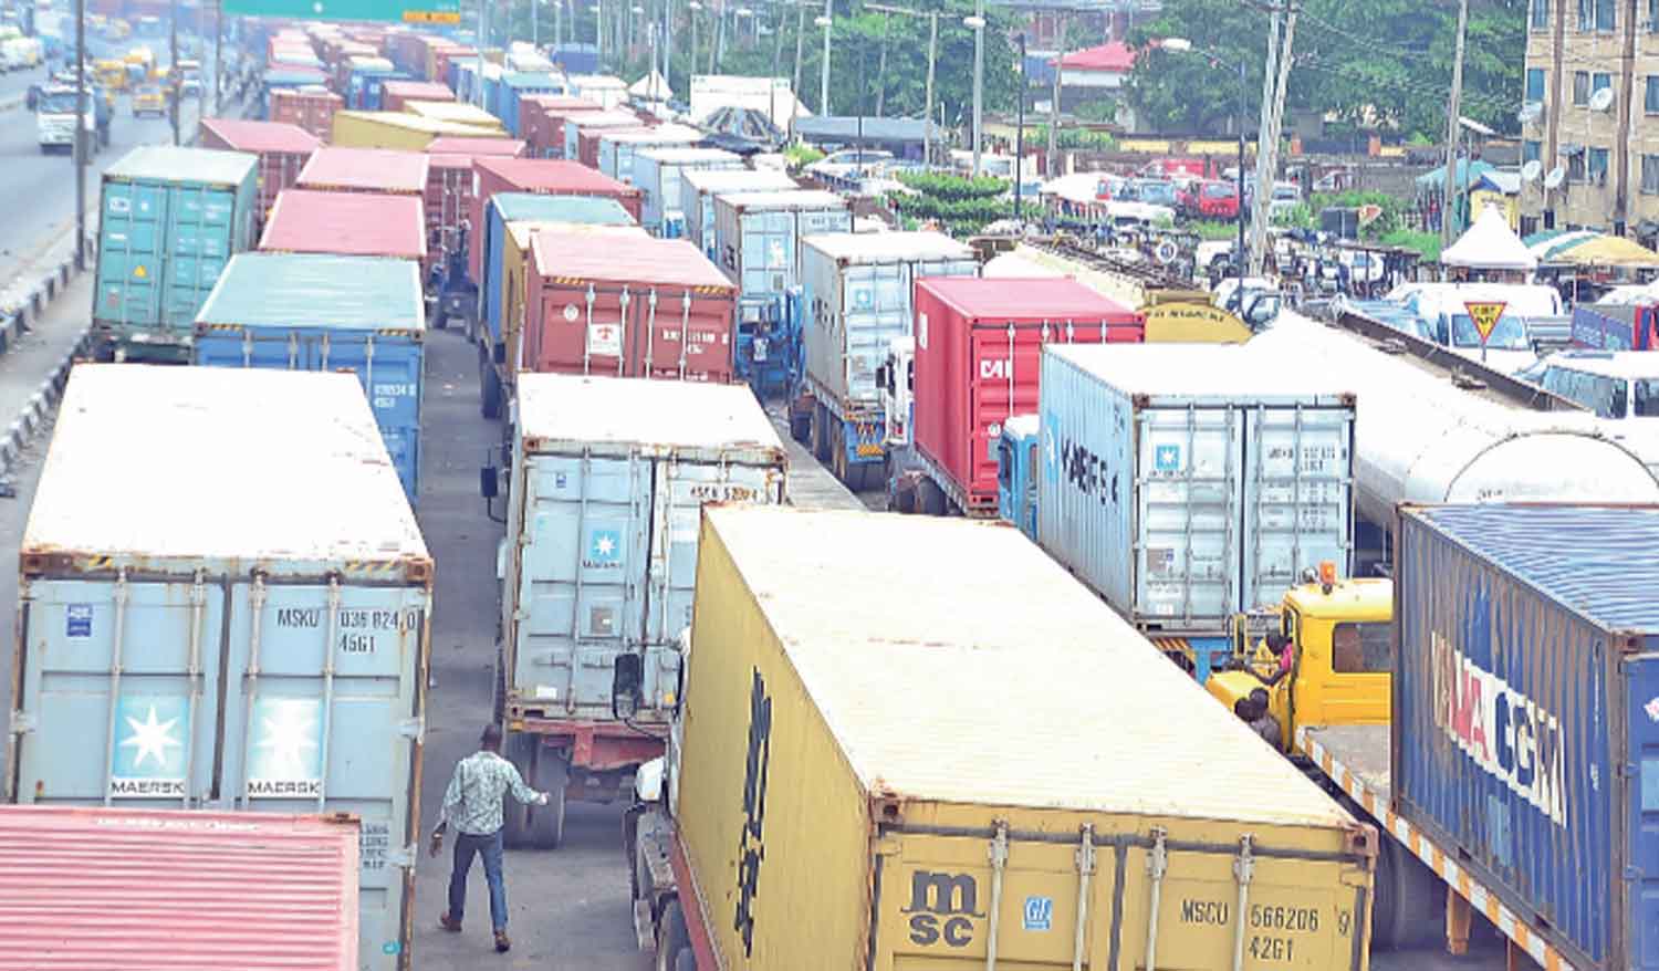
[(715, 966), (1367, 966), (1375, 830), (1019, 531), (707, 508), (692, 624)]

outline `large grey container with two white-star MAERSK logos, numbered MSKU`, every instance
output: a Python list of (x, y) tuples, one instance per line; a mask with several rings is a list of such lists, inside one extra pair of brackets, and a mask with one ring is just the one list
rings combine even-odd
[(78, 365), (18, 559), (10, 800), (352, 813), (408, 971), (433, 564), (358, 383)]

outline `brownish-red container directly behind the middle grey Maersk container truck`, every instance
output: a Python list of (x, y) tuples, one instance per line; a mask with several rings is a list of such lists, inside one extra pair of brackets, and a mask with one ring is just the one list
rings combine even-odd
[(737, 287), (684, 239), (538, 231), (523, 370), (730, 383)]

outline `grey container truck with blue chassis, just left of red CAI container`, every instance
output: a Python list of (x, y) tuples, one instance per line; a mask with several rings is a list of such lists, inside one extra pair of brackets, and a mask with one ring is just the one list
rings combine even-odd
[(854, 491), (886, 481), (888, 425), (876, 372), (888, 344), (911, 332), (916, 281), (977, 274), (974, 251), (939, 232), (801, 239), (805, 367), (790, 400), (790, 433)]

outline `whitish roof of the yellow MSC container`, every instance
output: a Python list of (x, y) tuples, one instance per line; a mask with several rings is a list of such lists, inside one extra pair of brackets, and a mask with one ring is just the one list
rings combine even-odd
[(781, 506), (703, 516), (871, 795), (1352, 825), (1019, 529)]

